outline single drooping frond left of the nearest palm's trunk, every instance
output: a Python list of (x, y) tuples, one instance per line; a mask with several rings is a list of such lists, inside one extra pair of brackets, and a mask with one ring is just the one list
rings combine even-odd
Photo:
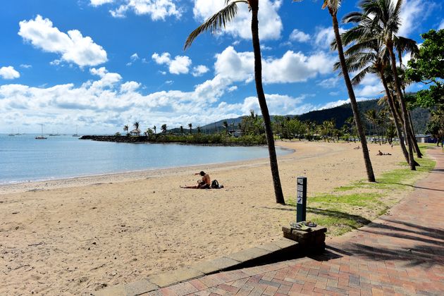
[(211, 34), (215, 34), (216, 32), (220, 32), (222, 28), (225, 28), (226, 23), (233, 20), (233, 18), (235, 18), (236, 14), (238, 13), (238, 5), (237, 5), (238, 2), (243, 2), (248, 4), (247, 1), (243, 0), (233, 1), (232, 3), (230, 3), (230, 0), (226, 0), (225, 1), (225, 3), (227, 4), (226, 7), (222, 8), (221, 11), (214, 13), (213, 16), (211, 16), (208, 20), (205, 20), (205, 22), (202, 25), (199, 25), (199, 27), (197, 27), (196, 30), (191, 32), (191, 34), (188, 36), (187, 40), (185, 41), (183, 49), (186, 50), (188, 47), (190, 47), (192, 42), (202, 32), (210, 31)]

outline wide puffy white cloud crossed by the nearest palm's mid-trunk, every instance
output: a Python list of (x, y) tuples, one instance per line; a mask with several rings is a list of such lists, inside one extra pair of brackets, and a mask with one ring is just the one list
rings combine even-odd
[[(333, 58), (323, 52), (305, 56), (302, 52), (287, 51), (282, 58), (262, 61), (264, 83), (304, 82), (319, 74), (331, 73)], [(237, 52), (227, 47), (216, 55), (216, 74), (233, 81), (251, 82), (254, 78), (254, 54)]]

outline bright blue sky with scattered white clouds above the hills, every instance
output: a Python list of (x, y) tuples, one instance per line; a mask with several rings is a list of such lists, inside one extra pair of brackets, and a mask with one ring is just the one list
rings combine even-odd
[[(0, 3), (0, 133), (142, 131), (203, 126), (260, 113), (254, 87), (250, 14), (217, 35), (187, 36), (223, 0), (5, 0)], [(264, 92), (273, 115), (347, 102), (333, 72), (331, 16), (322, 1), (259, 1)], [(343, 0), (338, 18), (357, 11)], [(405, 0), (400, 36), (444, 28), (440, 0)], [(341, 25), (341, 30), (347, 30)], [(406, 56), (404, 62), (408, 60)], [(417, 91), (422, 85), (411, 85)], [(378, 79), (355, 87), (381, 96)], [(229, 121), (228, 121), (229, 122)]]

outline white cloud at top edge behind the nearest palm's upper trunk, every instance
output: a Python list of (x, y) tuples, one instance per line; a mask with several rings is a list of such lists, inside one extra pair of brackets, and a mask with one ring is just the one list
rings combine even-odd
[[(221, 0), (193, 0), (195, 6), (193, 13), (197, 22), (202, 23), (207, 18), (224, 7)], [(261, 40), (278, 39), (283, 30), (282, 20), (278, 15), (278, 10), (282, 5), (282, 0), (261, 0), (259, 7), (259, 35)], [(231, 23), (226, 25), (222, 34), (229, 34), (233, 37), (251, 39), (251, 13), (246, 4), (238, 4), (238, 14)]]

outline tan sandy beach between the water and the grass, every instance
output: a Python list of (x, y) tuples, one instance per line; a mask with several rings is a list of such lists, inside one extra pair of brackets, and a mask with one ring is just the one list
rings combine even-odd
[[(286, 199), (366, 179), (355, 143), (277, 142)], [(399, 147), (370, 145), (376, 175)], [(392, 156), (376, 156), (378, 149)], [(225, 188), (187, 190), (206, 171)], [(90, 295), (282, 236), (295, 219), (276, 204), (268, 159), (0, 187), (0, 295)]]

